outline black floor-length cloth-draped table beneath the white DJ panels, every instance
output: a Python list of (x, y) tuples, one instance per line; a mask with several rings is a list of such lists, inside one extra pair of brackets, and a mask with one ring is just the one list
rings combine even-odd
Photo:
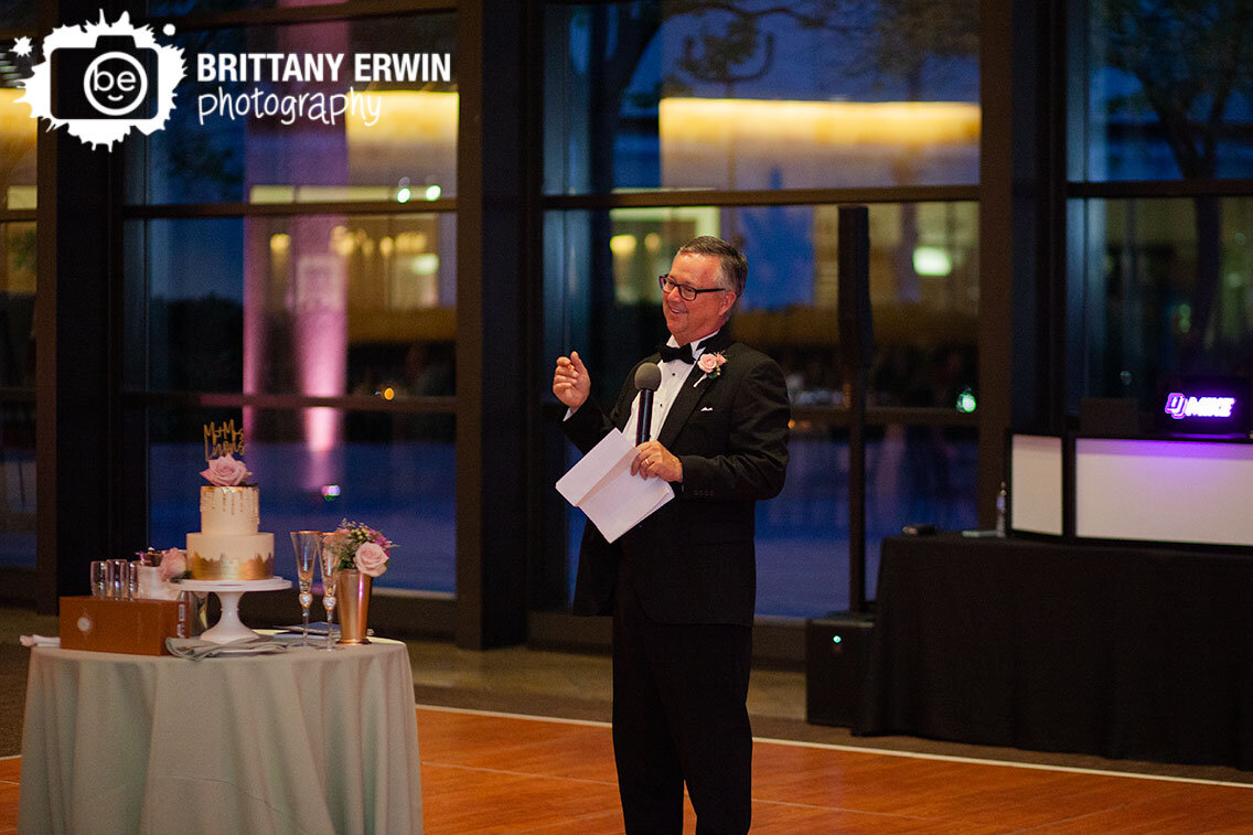
[(883, 540), (858, 733), (1253, 767), (1253, 554)]

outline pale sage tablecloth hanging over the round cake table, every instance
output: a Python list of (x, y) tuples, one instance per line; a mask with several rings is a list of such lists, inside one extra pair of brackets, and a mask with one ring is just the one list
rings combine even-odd
[(185, 661), (35, 648), (19, 832), (421, 832), (405, 644)]

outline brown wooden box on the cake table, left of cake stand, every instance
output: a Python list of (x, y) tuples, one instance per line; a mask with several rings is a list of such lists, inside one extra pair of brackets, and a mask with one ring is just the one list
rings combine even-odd
[(165, 656), (165, 638), (192, 634), (182, 601), (61, 598), (61, 648)]

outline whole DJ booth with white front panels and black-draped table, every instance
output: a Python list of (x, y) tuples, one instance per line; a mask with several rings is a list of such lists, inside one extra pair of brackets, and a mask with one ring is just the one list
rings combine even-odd
[(1021, 535), (883, 540), (853, 731), (1253, 769), (1248, 435), (1009, 450)]

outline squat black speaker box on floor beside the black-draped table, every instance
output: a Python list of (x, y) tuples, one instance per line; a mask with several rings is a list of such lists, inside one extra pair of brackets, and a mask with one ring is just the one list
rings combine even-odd
[(804, 623), (804, 718), (853, 727), (870, 673), (870, 614), (832, 612)]

